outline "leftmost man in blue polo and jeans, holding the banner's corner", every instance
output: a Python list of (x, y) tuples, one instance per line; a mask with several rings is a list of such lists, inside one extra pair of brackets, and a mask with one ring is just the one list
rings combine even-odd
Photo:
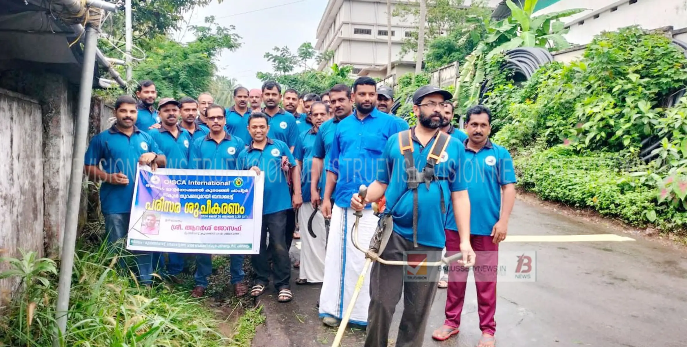
[[(115, 101), (115, 124), (95, 135), (85, 155), (86, 175), (92, 181), (101, 181), (100, 210), (105, 219), (107, 242), (112, 245), (128, 234), (131, 202), (137, 164), (155, 169), (164, 167), (161, 153), (150, 135), (141, 131), (136, 123), (138, 109), (131, 96), (120, 96)], [(102, 169), (100, 168), (102, 166)], [(153, 255), (147, 251), (135, 254), (138, 276), (143, 284), (153, 283)], [(120, 265), (126, 266), (124, 262)]]

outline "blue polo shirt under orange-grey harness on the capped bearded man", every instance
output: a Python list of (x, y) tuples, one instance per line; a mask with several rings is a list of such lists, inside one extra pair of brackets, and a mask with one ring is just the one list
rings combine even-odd
[[(427, 146), (422, 146), (415, 136), (415, 128), (411, 129), (414, 146), (415, 168), (422, 171), (427, 164), (427, 155), (431, 153), (431, 139)], [(418, 244), (429, 247), (443, 248), (446, 243), (444, 225), (446, 214), (441, 213), (441, 196), (447, 210), (451, 205), (451, 192), (466, 190), (468, 187), (461, 181), (460, 163), (465, 156), (463, 144), (457, 139), (449, 139), (442, 159), (434, 166), (434, 172), (440, 179), (430, 183), (429, 188), (425, 183), (418, 186)], [(386, 197), (385, 213), (391, 214), (394, 219), (394, 232), (403, 236), (406, 240), (413, 240), (413, 192), (407, 188), (407, 175), (401, 146), (398, 144), (398, 134), (393, 135), (384, 147), (383, 159), (387, 165), (379, 166), (377, 181), (389, 186), (384, 193)]]

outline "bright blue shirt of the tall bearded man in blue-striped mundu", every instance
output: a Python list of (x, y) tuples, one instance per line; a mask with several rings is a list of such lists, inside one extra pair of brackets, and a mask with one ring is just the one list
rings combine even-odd
[(377, 109), (363, 120), (354, 112), (339, 122), (324, 164), (326, 170), (338, 175), (334, 194), (337, 206), (350, 207), (350, 198), (360, 185), (369, 186), (374, 181), (387, 140), (401, 130), (396, 117)]

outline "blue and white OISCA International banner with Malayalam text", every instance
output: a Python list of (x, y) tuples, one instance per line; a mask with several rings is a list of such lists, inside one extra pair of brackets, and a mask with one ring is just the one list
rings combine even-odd
[(251, 170), (139, 166), (126, 248), (259, 254), (263, 187)]

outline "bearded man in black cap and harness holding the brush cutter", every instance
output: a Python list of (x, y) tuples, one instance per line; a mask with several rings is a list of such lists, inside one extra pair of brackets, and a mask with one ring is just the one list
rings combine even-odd
[[(471, 266), (475, 261), (469, 240), (470, 199), (466, 183), (460, 179), (465, 149), (457, 139), (439, 131), (444, 101), (451, 97), (451, 93), (436, 87), (418, 89), (413, 94), (413, 113), (418, 115), (418, 125), (393, 135), (386, 142), (381, 156), (385, 164), (379, 166), (377, 179), (368, 187), (365, 199), (357, 193), (352, 194), (350, 206), (356, 211), (385, 196), (383, 218), (391, 216), (393, 221), (393, 232), (381, 254), (385, 260), (403, 261), (413, 251), (423, 254), (423, 261), (439, 260), (447, 221), (444, 204), (450, 202), (455, 205), (455, 220), (464, 240), (460, 243), (462, 263)], [(409, 172), (415, 172), (417, 179), (410, 179), (413, 175), (408, 175)], [(422, 226), (420, 230), (418, 225)], [(396, 346), (423, 346), (438, 280), (436, 269), (427, 270), (426, 276), (414, 279), (406, 277), (407, 270), (403, 267), (374, 262), (370, 273), (370, 324), (365, 347), (387, 346), (392, 317), (401, 294), (403, 315)]]

